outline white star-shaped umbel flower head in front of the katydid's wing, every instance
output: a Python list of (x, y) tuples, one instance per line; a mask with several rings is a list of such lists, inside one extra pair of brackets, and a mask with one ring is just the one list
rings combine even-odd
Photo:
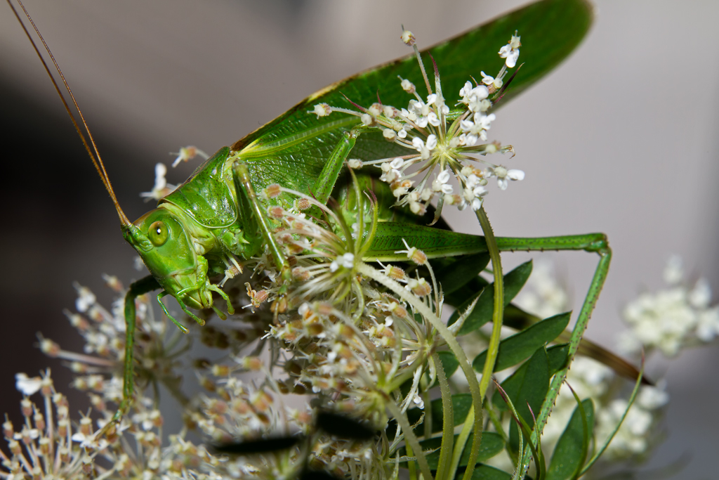
[[(472, 209), (478, 210), (487, 194), (485, 186), (489, 178), (497, 178), (497, 184), (502, 190), (507, 188), (510, 180), (524, 178), (521, 170), (508, 169), (485, 160), (485, 156), (492, 153), (513, 153), (511, 145), (502, 147), (498, 142), (487, 142), (487, 131), (496, 119), (490, 110), (503, 94), (508, 68), (516, 65), (520, 37), (513, 35), (508, 45), (500, 49), (500, 57), (505, 58), (505, 63), (497, 76), (488, 76), (482, 71), (482, 81), (464, 83), (457, 97), (457, 106), (461, 107), (459, 112), (450, 112), (446, 104), (434, 59), (433, 89), (414, 35), (405, 31), (402, 39), (415, 50), (428, 91), (426, 97), (418, 93), (411, 81), (400, 78), (402, 89), (413, 96), (407, 107), (397, 108), (380, 103), (362, 107), (353, 103), (357, 109), (353, 110), (318, 104), (313, 113), (318, 117), (332, 112), (356, 115), (366, 128), (381, 130), (386, 140), (411, 151), (399, 157), (349, 162), (354, 168), (362, 165), (381, 168), (383, 173), (380, 178), (390, 184), (398, 204), (408, 205), (412, 212), (423, 214), (429, 202), (437, 197), (438, 218), (445, 203), (459, 209), (470, 205)], [(433, 176), (436, 170), (439, 173)], [(451, 176), (457, 179), (458, 192), (448, 183)]]

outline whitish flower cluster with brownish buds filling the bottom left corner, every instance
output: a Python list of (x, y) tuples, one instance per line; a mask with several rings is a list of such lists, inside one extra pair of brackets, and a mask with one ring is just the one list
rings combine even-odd
[[(75, 410), (55, 390), (49, 370), (42, 378), (18, 373), (17, 380), (23, 422), (16, 431), (6, 416), (2, 425), (10, 452), (0, 450), (2, 479), (219, 479), (215, 472), (224, 473), (219, 458), (182, 435), (170, 435), (162, 448), (162, 415), (152, 399), (138, 396), (134, 415), (116, 433), (97, 439), (89, 414), (71, 419)], [(35, 403), (30, 397), (37, 393)], [(124, 435), (134, 437), (132, 445)]]

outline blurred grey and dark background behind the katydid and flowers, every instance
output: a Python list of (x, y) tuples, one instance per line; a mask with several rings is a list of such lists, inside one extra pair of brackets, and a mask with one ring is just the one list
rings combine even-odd
[[(170, 163), (168, 152), (197, 145), (212, 153), (328, 83), (405, 55), (400, 24), (429, 46), (523, 3), (27, 0), (132, 218), (151, 208), (138, 194), (152, 188), (155, 163)], [(719, 289), (719, 3), (595, 4), (580, 48), (498, 111), (490, 138), (515, 146), (506, 161), (526, 179), (492, 191), (486, 208), (497, 235), (608, 234), (615, 256), (587, 335), (611, 346), (623, 304), (662, 285), (670, 254)], [(68, 390), (64, 369), (32, 345), (42, 331), (81, 348), (61, 313), (74, 305), (71, 282), (93, 287), (109, 305), (100, 273), (125, 284), (139, 273), (35, 53), (9, 8), (0, 10), (0, 412), (17, 416), (16, 371), (51, 365), (58, 388)], [(168, 181), (181, 183), (193, 168), (170, 171)], [(457, 214), (449, 222), (479, 231)], [(546, 255), (578, 301), (596, 257)], [(503, 262), (524, 259), (507, 254)], [(654, 360), (672, 395), (669, 438), (643, 468), (689, 453), (679, 478), (716, 478), (718, 350)]]

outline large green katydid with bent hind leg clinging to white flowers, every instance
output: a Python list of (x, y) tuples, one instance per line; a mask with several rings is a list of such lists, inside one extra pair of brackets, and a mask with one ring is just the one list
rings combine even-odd
[[(426, 53), (436, 60), (442, 72), (445, 94), (455, 95), (454, 92), (467, 81), (467, 77), (476, 75), (479, 67), (486, 65), (490, 59), (495, 60), (497, 48), (515, 30), (519, 30), (526, 45), (523, 49), (526, 65), (514, 79), (512, 88), (503, 95), (501, 101), (505, 102), (565, 58), (585, 35), (590, 18), (590, 8), (583, 1), (539, 2), (426, 50)], [(425, 58), (429, 56), (425, 55)], [(467, 58), (472, 58), (472, 61), (468, 62)], [(283, 274), (287, 275), (285, 255), (277, 248), (265, 218), (265, 210), (271, 202), (260, 198), (257, 192), (276, 183), (326, 203), (349, 156), (376, 158), (377, 148), (382, 150), (380, 156), (395, 155), (396, 147), (384, 142), (378, 132), (364, 132), (357, 117), (333, 114), (320, 118), (310, 111), (320, 103), (347, 105), (343, 95), (367, 107), (375, 101), (377, 92), (385, 104), (402, 104), (400, 95), (403, 92), (396, 86), (398, 75), (416, 78), (416, 60), (409, 57), (373, 68), (308, 97), (230, 148), (219, 150), (186, 184), (136, 222), (129, 222), (115, 201), (125, 238), (138, 250), (152, 273), (152, 276), (133, 284), (127, 295), (124, 402), (119, 413), (129, 407), (134, 386), (134, 298), (147, 291), (161, 289), (158, 299), (165, 295), (173, 296), (189, 317), (202, 322), (190, 309), (215, 308), (213, 291), (224, 296), (211, 280), (213, 272), (219, 273), (226, 268), (226, 260), (232, 261), (236, 257), (242, 261), (261, 253), (267, 246), (275, 264), (285, 267)], [(99, 158), (97, 161), (101, 177), (111, 193), (109, 178)], [(429, 228), (424, 225), (427, 221), (422, 217), (408, 222), (410, 214), (390, 209), (394, 200), (391, 196), (392, 201), (387, 201), (387, 196), (378, 197), (378, 208), (385, 216), (383, 219), (401, 216), (405, 221), (380, 222), (370, 250), (365, 253), (368, 261), (377, 258), (405, 260), (405, 255), (395, 253), (404, 247), (403, 240), (435, 258), (487, 251), (487, 242), (483, 237)], [(587, 250), (600, 253), (602, 259), (572, 338), (576, 350), (607, 272), (610, 250), (605, 237), (596, 234), (541, 239), (498, 238), (495, 250)], [(496, 251), (494, 253), (497, 254)], [(498, 267), (498, 264), (495, 265), (495, 272), (501, 278), (501, 268)], [(500, 286), (501, 281), (495, 282), (495, 287)], [(229, 304), (228, 309), (232, 310)], [(501, 306), (498, 312), (501, 317)], [(219, 314), (222, 315), (222, 312)], [(179, 322), (176, 323), (181, 327)], [(562, 383), (562, 379), (561, 375), (555, 378), (554, 389)], [(545, 420), (548, 412), (548, 409), (541, 412)]]

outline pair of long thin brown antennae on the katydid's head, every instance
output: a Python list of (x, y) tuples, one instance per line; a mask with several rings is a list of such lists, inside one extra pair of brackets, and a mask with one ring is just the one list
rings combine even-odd
[[(40, 37), (40, 41), (42, 42), (42, 45), (45, 46), (45, 50), (47, 51), (47, 54), (50, 55), (50, 59), (52, 59), (52, 63), (53, 63), (53, 65), (55, 65), (55, 69), (57, 69), (58, 74), (60, 75), (60, 78), (62, 78), (63, 84), (65, 85), (65, 89), (67, 89), (68, 94), (70, 94), (70, 99), (72, 99), (73, 105), (75, 106), (75, 110), (77, 110), (78, 114), (80, 115), (80, 119), (83, 123), (83, 127), (85, 127), (85, 131), (87, 132), (88, 137), (90, 138), (89, 143), (88, 143), (85, 135), (83, 135), (83, 131), (81, 130), (80, 126), (78, 125), (78, 122), (75, 120), (75, 116), (73, 115), (73, 112), (70, 109), (68, 102), (65, 100), (65, 96), (63, 96), (63, 92), (60, 91), (60, 86), (58, 86), (58, 82), (55, 81), (55, 77), (52, 76), (52, 72), (50, 72), (50, 68), (47, 67), (47, 63), (45, 63), (45, 58), (42, 58), (42, 55), (40, 54), (40, 50), (38, 50), (37, 45), (35, 45), (35, 40), (32, 40), (32, 36), (30, 35), (30, 32), (27, 31), (27, 27), (25, 27), (25, 24), (22, 22), (22, 18), (20, 18), (19, 14), (17, 13), (17, 10), (13, 6), (13, 4), (10, 2), (10, 0), (6, 0), (6, 1), (7, 1), (7, 4), (10, 6), (10, 8), (12, 9), (12, 12), (15, 14), (17, 21), (20, 22), (20, 25), (22, 26), (22, 30), (25, 31), (25, 35), (27, 35), (28, 40), (30, 40), (30, 43), (32, 43), (32, 47), (35, 48), (35, 53), (37, 53), (38, 58), (40, 58), (40, 61), (42, 62), (42, 66), (45, 67), (47, 76), (50, 77), (50, 81), (52, 81), (52, 85), (55, 86), (55, 91), (58, 92), (58, 95), (60, 96), (60, 100), (63, 101), (63, 105), (65, 106), (65, 112), (68, 112), (68, 116), (70, 117), (70, 121), (73, 122), (75, 131), (78, 132), (78, 135), (80, 135), (80, 140), (82, 140), (83, 145), (85, 145), (85, 150), (87, 150), (88, 155), (90, 155), (90, 159), (92, 160), (93, 166), (95, 166), (95, 170), (99, 174), (100, 179), (102, 180), (102, 183), (104, 184), (105, 189), (107, 190), (107, 193), (110, 194), (110, 199), (112, 200), (112, 203), (115, 205), (117, 214), (120, 217), (120, 222), (122, 222), (123, 226), (131, 225), (131, 222), (127, 218), (127, 215), (125, 215), (125, 212), (122, 211), (122, 207), (120, 207), (120, 204), (117, 201), (115, 192), (112, 189), (112, 184), (110, 183), (110, 178), (109, 178), (109, 176), (107, 176), (107, 172), (105, 171), (105, 165), (104, 165), (104, 163), (102, 163), (102, 158), (100, 157), (100, 152), (97, 149), (97, 145), (95, 144), (95, 139), (93, 139), (92, 133), (90, 132), (90, 127), (88, 127), (87, 122), (85, 122), (85, 117), (83, 117), (83, 112), (81, 111), (80, 107), (78, 106), (78, 102), (75, 100), (73, 91), (70, 90), (70, 85), (68, 85), (68, 81), (65, 80), (63, 71), (60, 70), (60, 65), (58, 65), (57, 61), (55, 61), (55, 56), (52, 55), (52, 52), (50, 51), (50, 47), (47, 46), (47, 43), (45, 43), (45, 39), (42, 38), (42, 35), (40, 34), (40, 30), (37, 30), (37, 26), (35, 25), (35, 22), (32, 21), (32, 17), (30, 17), (30, 14), (27, 12), (27, 9), (25, 9), (25, 6), (22, 4), (22, 1), (17, 0), (17, 3), (22, 8), (22, 11), (25, 12), (25, 17), (27, 17), (27, 20), (30, 22), (30, 24), (32, 24), (32, 28), (35, 29), (35, 33), (37, 33), (37, 36)], [(90, 144), (92, 144), (92, 148), (90, 148)], [(94, 152), (94, 154), (93, 154), (93, 152)]]

